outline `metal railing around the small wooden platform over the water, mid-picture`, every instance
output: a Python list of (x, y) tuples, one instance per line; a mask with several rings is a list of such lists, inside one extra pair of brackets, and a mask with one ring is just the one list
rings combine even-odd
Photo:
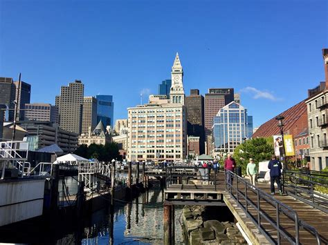
[[(169, 188), (172, 184), (190, 184), (193, 182), (194, 184), (211, 185), (217, 190), (219, 169), (189, 165), (167, 166), (165, 170), (165, 188)], [(213, 175), (211, 175), (212, 172)]]

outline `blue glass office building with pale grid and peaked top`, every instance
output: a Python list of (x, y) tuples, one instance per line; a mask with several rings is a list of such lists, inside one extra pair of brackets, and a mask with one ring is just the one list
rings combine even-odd
[(235, 101), (224, 106), (214, 117), (212, 140), (215, 152), (233, 153), (246, 137), (247, 109)]

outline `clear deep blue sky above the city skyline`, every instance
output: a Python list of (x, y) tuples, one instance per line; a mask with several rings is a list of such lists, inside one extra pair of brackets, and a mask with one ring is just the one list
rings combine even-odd
[(259, 126), (324, 80), (322, 48), (326, 0), (0, 1), (0, 76), (21, 72), (31, 101), (52, 104), (81, 79), (84, 95), (113, 95), (115, 119), (179, 52), (186, 95), (233, 87)]

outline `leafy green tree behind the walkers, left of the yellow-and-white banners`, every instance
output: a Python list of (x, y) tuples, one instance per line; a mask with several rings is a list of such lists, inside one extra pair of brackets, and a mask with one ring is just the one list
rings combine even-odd
[[(240, 144), (235, 148), (233, 157), (236, 161), (237, 166), (242, 167), (242, 173), (246, 174), (246, 167), (248, 160), (253, 158), (255, 164), (260, 161), (271, 159), (273, 155), (273, 138), (255, 138), (248, 139), (243, 144)], [(257, 168), (258, 169), (258, 168)]]

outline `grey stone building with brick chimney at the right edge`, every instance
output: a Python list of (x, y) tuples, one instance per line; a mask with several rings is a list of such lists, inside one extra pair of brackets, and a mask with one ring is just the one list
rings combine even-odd
[(328, 49), (322, 49), (325, 68), (325, 81), (308, 91), (307, 117), (309, 125), (309, 143), (311, 169), (322, 170), (328, 166)]

